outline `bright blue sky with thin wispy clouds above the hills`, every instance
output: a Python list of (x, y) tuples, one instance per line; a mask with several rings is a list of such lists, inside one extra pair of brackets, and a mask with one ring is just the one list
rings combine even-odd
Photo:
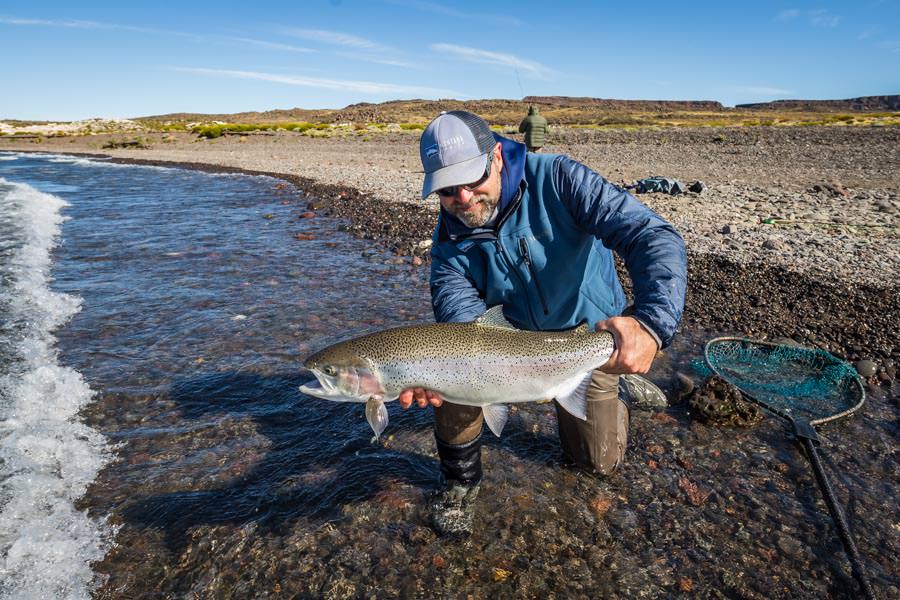
[(900, 93), (900, 0), (0, 0), (0, 119)]

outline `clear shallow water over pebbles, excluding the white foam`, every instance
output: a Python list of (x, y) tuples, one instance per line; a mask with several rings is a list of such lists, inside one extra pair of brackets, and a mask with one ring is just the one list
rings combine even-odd
[[(302, 191), (274, 179), (0, 156), (15, 157), (0, 177), (69, 204), (51, 287), (81, 310), (47, 329), (95, 393), (81, 418), (104, 436), (97, 460), (115, 455), (77, 505), (85, 539), (114, 544), (69, 596), (852, 596), (784, 424), (719, 429), (683, 404), (634, 412), (609, 480), (561, 468), (550, 407), (513, 407), (502, 438), (485, 434), (483, 526), (436, 538), (430, 411), (390, 405), (373, 445), (362, 406), (297, 391), (311, 351), (428, 321), (425, 269), (298, 218)], [(674, 387), (707, 335), (683, 335), (652, 378)], [(896, 402), (882, 393), (824, 430), (882, 597), (900, 596)]]

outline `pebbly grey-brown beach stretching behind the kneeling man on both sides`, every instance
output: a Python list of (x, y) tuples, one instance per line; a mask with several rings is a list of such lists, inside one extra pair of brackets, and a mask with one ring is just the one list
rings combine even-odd
[[(418, 200), (416, 135), (278, 132), (198, 142), (167, 134), (147, 150), (100, 151), (109, 137), (51, 139), (40, 148), (0, 139), (0, 151), (271, 175), (297, 186), (298, 215), (345, 219), (344, 229), (398, 260), (427, 263), (437, 205)], [(706, 183), (702, 194), (638, 196), (685, 237), (683, 329), (790, 338), (871, 360), (870, 384), (891, 386), (900, 363), (898, 128), (559, 128), (553, 138), (548, 151), (618, 183), (650, 175)]]

